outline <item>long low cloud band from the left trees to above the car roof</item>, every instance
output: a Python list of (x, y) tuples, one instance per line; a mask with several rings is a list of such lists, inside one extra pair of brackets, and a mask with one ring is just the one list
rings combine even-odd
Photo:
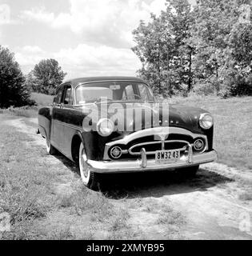
[(67, 78), (98, 75), (134, 75), (141, 67), (137, 56), (130, 49), (110, 46), (90, 46), (79, 44), (75, 48), (48, 53), (38, 46), (25, 46), (15, 49), (15, 58), (25, 74), (44, 58), (55, 58)]

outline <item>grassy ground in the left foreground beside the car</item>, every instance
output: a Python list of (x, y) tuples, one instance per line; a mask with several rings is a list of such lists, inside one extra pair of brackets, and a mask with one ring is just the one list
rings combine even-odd
[(129, 238), (127, 210), (88, 190), (77, 173), (59, 167), (45, 147), (11, 127), (13, 120), (0, 115), (0, 213), (10, 214), (11, 223), (2, 238)]

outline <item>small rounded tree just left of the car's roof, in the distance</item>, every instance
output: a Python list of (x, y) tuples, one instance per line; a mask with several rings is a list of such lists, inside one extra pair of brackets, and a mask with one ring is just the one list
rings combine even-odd
[(27, 83), (32, 90), (42, 94), (54, 94), (66, 73), (62, 71), (58, 62), (52, 58), (42, 60), (28, 75)]

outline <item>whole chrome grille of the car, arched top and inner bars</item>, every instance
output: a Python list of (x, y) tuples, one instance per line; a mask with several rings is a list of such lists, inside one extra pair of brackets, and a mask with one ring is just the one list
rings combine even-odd
[[(142, 149), (146, 150), (146, 155), (149, 158), (152, 158), (157, 150), (180, 150), (182, 153), (187, 154), (188, 148), (192, 149), (196, 138), (202, 138), (206, 142), (206, 147), (202, 152), (206, 151), (208, 149), (207, 137), (203, 134), (194, 134), (189, 130), (177, 127), (157, 127), (140, 130), (117, 141), (107, 143), (103, 159), (112, 159), (110, 158), (110, 150), (113, 146), (121, 147), (123, 152), (121, 158), (123, 159), (138, 159)], [(202, 152), (198, 152), (198, 154)]]

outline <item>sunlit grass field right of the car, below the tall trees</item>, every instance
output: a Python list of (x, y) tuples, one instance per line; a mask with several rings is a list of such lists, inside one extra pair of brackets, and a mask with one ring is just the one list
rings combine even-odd
[(172, 98), (170, 103), (198, 106), (214, 115), (214, 148), (218, 162), (252, 170), (252, 97)]

